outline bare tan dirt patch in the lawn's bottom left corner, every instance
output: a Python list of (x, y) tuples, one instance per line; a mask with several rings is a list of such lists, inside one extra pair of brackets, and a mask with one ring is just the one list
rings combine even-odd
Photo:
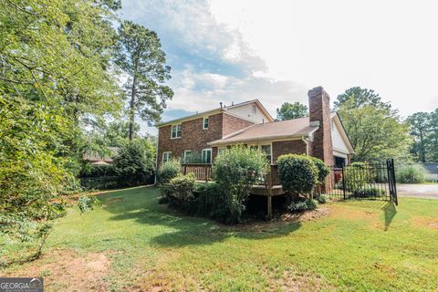
[(104, 253), (77, 255), (69, 250), (54, 250), (5, 276), (43, 276), (50, 291), (108, 291), (105, 276), (109, 268), (110, 259)]

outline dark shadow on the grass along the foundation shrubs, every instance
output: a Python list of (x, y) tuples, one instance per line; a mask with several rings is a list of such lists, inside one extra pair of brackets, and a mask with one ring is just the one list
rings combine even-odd
[(266, 239), (293, 233), (299, 221), (287, 223), (256, 221), (225, 225), (203, 217), (179, 213), (158, 203), (154, 189), (133, 190), (129, 193), (110, 193), (101, 197), (103, 208), (114, 214), (110, 220), (134, 220), (137, 223), (163, 226), (160, 235), (148, 238), (152, 245), (182, 247), (185, 245), (213, 245), (228, 237)]

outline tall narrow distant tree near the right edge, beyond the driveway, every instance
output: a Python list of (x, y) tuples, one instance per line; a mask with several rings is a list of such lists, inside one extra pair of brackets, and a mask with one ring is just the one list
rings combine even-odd
[(431, 114), (416, 112), (408, 117), (407, 122), (411, 126), (414, 140), (412, 152), (420, 158), (421, 162), (426, 162), (426, 142), (431, 130)]

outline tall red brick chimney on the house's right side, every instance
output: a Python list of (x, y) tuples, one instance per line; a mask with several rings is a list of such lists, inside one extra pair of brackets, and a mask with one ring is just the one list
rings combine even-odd
[(313, 133), (313, 155), (327, 165), (333, 165), (333, 145), (331, 142), (331, 112), (330, 97), (322, 88), (308, 90), (308, 110), (310, 124), (318, 125)]

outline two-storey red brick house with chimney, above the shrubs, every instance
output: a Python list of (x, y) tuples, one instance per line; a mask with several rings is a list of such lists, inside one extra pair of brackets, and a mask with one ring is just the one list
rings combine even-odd
[(307, 118), (275, 121), (258, 99), (197, 113), (158, 125), (157, 166), (172, 157), (188, 158), (200, 152), (204, 163), (218, 152), (245, 144), (266, 153), (276, 164), (278, 156), (308, 154), (328, 165), (349, 164), (353, 148), (329, 97), (321, 87), (308, 91)]

